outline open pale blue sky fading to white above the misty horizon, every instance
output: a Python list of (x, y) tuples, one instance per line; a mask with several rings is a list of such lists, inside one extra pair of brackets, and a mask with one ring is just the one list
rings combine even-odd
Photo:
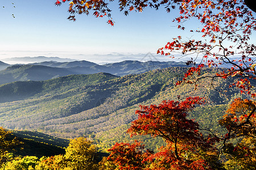
[[(177, 12), (167, 14), (164, 10), (147, 8), (142, 13), (131, 12), (125, 16), (113, 4), (115, 25), (111, 27), (106, 24), (107, 18), (94, 16), (80, 15), (76, 22), (71, 22), (67, 20), (68, 3), (60, 7), (54, 3), (55, 0), (1, 2), (0, 60), (47, 56), (114, 62), (118, 61), (115, 56), (119, 53), (125, 54), (127, 59), (129, 55), (155, 54), (172, 37), (181, 34), (171, 22)], [(98, 58), (97, 54), (103, 58)], [(105, 58), (107, 54), (113, 56)], [(168, 60), (168, 57), (159, 60)]]

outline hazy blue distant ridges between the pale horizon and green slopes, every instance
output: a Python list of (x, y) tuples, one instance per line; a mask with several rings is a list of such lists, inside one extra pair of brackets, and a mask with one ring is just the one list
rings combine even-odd
[[(1, 66), (1, 63), (0, 63)], [(5, 65), (7, 67), (9, 65)], [(98, 65), (89, 61), (56, 62), (44, 61), (28, 65), (12, 65), (0, 71), (0, 84), (15, 81), (41, 81), (74, 74), (110, 73), (117, 76), (140, 74), (167, 67), (188, 67), (185, 62), (122, 61)]]

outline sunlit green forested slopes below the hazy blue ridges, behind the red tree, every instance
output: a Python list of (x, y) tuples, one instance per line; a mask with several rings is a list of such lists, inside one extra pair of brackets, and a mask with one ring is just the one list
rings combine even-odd
[[(209, 95), (208, 108), (240, 96), (235, 89), (225, 94), (228, 98), (222, 96), (207, 88), (206, 79), (200, 82), (199, 86), (206, 86), (200, 91), (195, 91), (191, 84), (176, 87), (176, 81), (186, 70), (170, 67), (123, 77), (98, 73), (3, 84), (0, 86), (0, 125), (8, 129), (37, 130), (61, 138), (85, 136), (117, 142), (125, 138), (127, 125), (137, 117), (135, 110), (140, 104), (178, 100), (178, 95), (181, 100)], [(201, 75), (215, 73), (216, 69), (206, 69)], [(230, 84), (227, 81), (232, 79), (216, 79), (213, 83), (217, 90), (224, 91)], [(220, 109), (216, 115), (222, 112)], [(193, 118), (199, 114), (204, 116), (199, 111), (193, 113)]]

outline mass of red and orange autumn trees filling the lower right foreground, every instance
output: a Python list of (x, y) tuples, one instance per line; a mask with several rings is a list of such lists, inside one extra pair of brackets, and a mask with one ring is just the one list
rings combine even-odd
[[(219, 121), (228, 133), (222, 138), (203, 135), (188, 112), (204, 104), (200, 97), (184, 101), (163, 101), (136, 111), (138, 119), (127, 130), (134, 135), (161, 137), (166, 146), (156, 153), (139, 142), (116, 143), (108, 160), (117, 169), (253, 169), (255, 155), (255, 101), (235, 99)], [(230, 139), (242, 139), (233, 144)], [(216, 143), (220, 145), (216, 147)], [(225, 155), (225, 156), (224, 156)], [(224, 161), (225, 160), (225, 161)], [(222, 163), (221, 163), (222, 162)]]

